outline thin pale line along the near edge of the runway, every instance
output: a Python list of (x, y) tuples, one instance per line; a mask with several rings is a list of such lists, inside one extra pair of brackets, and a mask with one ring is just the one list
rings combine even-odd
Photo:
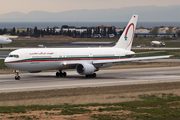
[[(179, 80), (179, 79), (178, 79)], [(4, 90), (22, 90), (22, 89), (35, 89), (35, 88), (56, 88), (57, 87), (68, 87), (68, 86), (83, 86), (83, 85), (99, 85), (99, 84), (115, 84), (115, 83), (130, 83), (130, 82), (160, 82), (160, 80), (131, 80), (131, 81), (118, 81), (118, 82), (100, 82), (100, 83), (86, 83), (86, 84), (67, 84), (67, 85), (52, 85), (52, 86), (34, 86), (34, 87), (19, 87), (19, 88), (2, 88)], [(163, 80), (164, 82), (164, 80)]]

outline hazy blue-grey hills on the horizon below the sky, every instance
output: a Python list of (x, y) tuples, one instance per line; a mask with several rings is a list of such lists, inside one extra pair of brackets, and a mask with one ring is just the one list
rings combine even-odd
[(72, 10), (58, 13), (32, 11), (0, 14), (0, 22), (125, 22), (133, 14), (141, 22), (180, 22), (180, 6), (139, 6), (120, 9)]

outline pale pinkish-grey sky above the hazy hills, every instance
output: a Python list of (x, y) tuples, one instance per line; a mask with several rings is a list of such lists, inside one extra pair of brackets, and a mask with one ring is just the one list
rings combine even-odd
[(180, 0), (0, 0), (0, 14), (31, 11), (62, 12), (80, 9), (108, 9), (131, 6), (180, 5)]

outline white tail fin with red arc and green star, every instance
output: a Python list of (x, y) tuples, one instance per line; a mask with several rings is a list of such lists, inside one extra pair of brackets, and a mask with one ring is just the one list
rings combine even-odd
[(121, 37), (119, 38), (118, 42), (114, 47), (131, 50), (137, 19), (138, 19), (138, 15), (132, 16), (131, 20), (126, 26), (126, 29), (124, 30), (123, 34), (121, 35)]

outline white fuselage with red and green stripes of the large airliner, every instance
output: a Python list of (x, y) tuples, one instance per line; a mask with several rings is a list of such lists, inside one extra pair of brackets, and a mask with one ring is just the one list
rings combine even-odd
[(75, 68), (66, 63), (92, 63), (96, 60), (123, 59), (134, 52), (114, 47), (99, 48), (32, 48), (11, 52), (5, 64), (22, 71), (63, 70)]

